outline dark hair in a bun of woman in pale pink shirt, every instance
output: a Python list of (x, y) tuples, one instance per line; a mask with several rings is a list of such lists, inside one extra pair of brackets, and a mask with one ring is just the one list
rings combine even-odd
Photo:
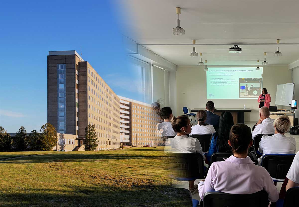
[(233, 153), (245, 153), (248, 150), (251, 140), (251, 130), (247, 125), (235, 124), (231, 127), (229, 141), (231, 142)]

